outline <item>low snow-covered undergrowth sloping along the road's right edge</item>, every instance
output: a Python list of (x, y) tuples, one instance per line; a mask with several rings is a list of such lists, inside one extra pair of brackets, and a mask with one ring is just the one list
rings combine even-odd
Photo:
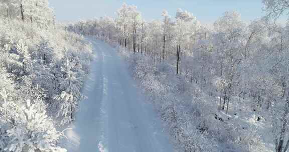
[(216, 108), (217, 98), (201, 92), (184, 76), (176, 76), (169, 62), (154, 62), (122, 47), (119, 52), (180, 151), (269, 151), (252, 126), (260, 123), (253, 113), (240, 108), (244, 106), (237, 99), (232, 103), (233, 116), (227, 115)]

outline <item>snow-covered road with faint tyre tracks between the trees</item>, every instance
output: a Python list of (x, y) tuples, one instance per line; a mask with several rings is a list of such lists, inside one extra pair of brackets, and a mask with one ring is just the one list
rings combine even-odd
[(76, 121), (65, 131), (68, 151), (170, 152), (168, 135), (144, 100), (124, 61), (101, 40), (87, 38), (96, 53)]

